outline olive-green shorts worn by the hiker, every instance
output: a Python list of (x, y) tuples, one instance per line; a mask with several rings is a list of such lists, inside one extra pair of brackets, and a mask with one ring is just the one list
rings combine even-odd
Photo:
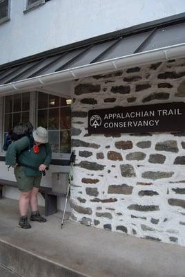
[(17, 180), (18, 188), (22, 192), (32, 190), (33, 187), (39, 188), (41, 184), (41, 176), (27, 177), (22, 166), (17, 166), (17, 168), (14, 168), (14, 175)]

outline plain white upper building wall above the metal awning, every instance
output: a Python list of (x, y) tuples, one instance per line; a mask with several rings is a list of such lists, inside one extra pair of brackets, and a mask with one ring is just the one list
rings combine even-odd
[(50, 0), (23, 13), (26, 0), (11, 0), (10, 21), (0, 25), (0, 64), (90, 37), (176, 15), (184, 0)]

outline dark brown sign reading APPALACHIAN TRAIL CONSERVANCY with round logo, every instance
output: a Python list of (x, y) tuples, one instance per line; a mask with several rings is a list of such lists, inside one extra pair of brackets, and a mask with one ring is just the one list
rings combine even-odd
[(89, 134), (182, 132), (184, 130), (184, 102), (88, 111)]

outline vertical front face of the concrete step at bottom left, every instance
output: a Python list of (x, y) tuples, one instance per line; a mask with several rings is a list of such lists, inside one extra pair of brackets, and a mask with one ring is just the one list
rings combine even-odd
[[(22, 277), (86, 277), (86, 275), (80, 274), (64, 265), (38, 256), (3, 240), (0, 240), (0, 253), (1, 263)], [(10, 275), (8, 271), (6, 273)], [(2, 277), (3, 275), (0, 276)], [(10, 275), (10, 277), (15, 276), (18, 275)]]

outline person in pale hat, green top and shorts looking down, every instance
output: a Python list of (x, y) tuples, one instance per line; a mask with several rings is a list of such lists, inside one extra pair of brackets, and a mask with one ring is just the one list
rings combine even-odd
[(48, 131), (38, 127), (32, 136), (23, 136), (12, 142), (6, 152), (6, 164), (14, 168), (14, 175), (21, 191), (19, 199), (20, 220), (23, 229), (31, 228), (28, 223), (28, 206), (31, 209), (30, 220), (46, 222), (38, 211), (37, 194), (43, 172), (49, 167), (51, 148), (48, 143)]

